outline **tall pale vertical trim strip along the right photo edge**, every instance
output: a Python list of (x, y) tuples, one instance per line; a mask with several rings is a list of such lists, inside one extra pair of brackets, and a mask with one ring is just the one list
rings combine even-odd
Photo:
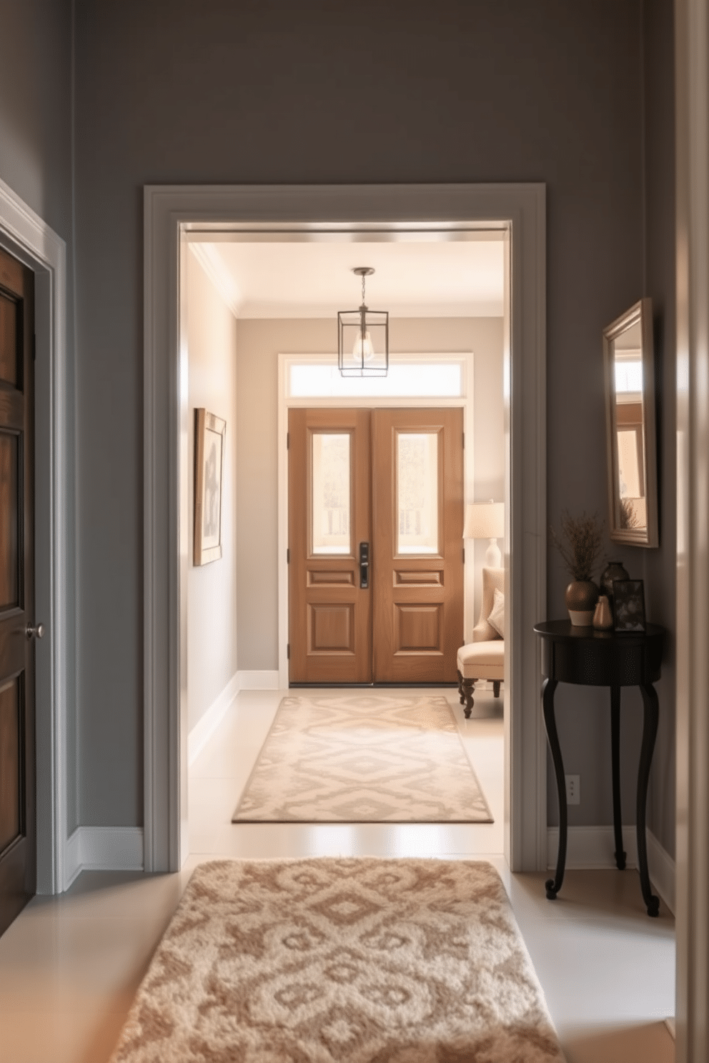
[(676, 1063), (709, 1059), (709, 9), (675, 2)]

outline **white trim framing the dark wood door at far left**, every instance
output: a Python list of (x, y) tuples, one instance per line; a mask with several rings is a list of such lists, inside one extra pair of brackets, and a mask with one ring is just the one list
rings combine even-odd
[(46, 638), (36, 657), (37, 893), (68, 884), (67, 703), (72, 504), (68, 497), (66, 244), (0, 181), (0, 246), (35, 274), (35, 612)]

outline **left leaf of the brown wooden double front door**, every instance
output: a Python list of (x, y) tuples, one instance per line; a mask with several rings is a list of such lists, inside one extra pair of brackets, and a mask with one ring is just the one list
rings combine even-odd
[(371, 682), (370, 417), (366, 409), (288, 416), (291, 682)]

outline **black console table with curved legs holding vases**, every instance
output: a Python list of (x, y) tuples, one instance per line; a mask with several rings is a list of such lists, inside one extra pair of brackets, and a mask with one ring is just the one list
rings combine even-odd
[(642, 632), (598, 631), (593, 627), (574, 627), (568, 620), (553, 620), (537, 624), (535, 631), (542, 642), (542, 707), (544, 726), (548, 738), (556, 786), (559, 794), (559, 853), (556, 875), (546, 882), (546, 896), (556, 898), (563, 882), (567, 862), (567, 787), (561, 747), (554, 716), (554, 691), (559, 682), (581, 684), (591, 687), (610, 687), (610, 735), (613, 772), (613, 829), (615, 833), (615, 864), (625, 867), (623, 827), (621, 820), (621, 687), (639, 687), (644, 706), (642, 747), (638, 767), (638, 865), (640, 885), (648, 915), (657, 915), (660, 901), (654, 896), (647, 874), (647, 843), (645, 839), (645, 806), (649, 765), (657, 737), (659, 714), (654, 682), (660, 678), (664, 628), (648, 624)]

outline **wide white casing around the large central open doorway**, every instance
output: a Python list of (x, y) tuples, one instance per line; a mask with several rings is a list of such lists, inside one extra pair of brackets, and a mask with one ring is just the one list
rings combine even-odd
[[(186, 352), (181, 253), (190, 240), (411, 232), (503, 233), (508, 304), (505, 538), (511, 613), (506, 654), (505, 854), (513, 871), (546, 863), (546, 738), (534, 624), (546, 615), (545, 189), (500, 185), (185, 185), (144, 189), (145, 849), (146, 871), (176, 871), (186, 850), (187, 723), (183, 538)], [(184, 525), (184, 526), (183, 526)], [(167, 618), (167, 623), (166, 623)]]

